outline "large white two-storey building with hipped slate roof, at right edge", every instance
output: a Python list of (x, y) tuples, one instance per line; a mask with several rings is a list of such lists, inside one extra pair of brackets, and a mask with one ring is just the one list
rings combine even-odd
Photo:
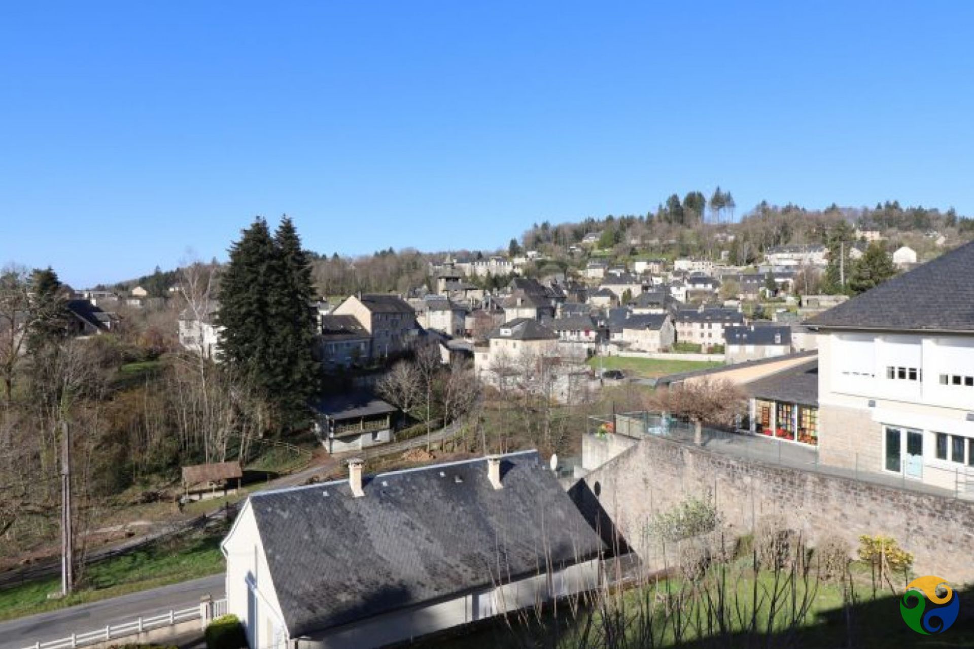
[(822, 462), (974, 495), (974, 243), (807, 321)]

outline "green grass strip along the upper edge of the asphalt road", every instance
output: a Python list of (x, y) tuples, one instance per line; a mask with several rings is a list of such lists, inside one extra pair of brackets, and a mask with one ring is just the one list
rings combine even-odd
[(175, 584), (222, 572), (219, 544), (226, 529), (196, 532), (161, 542), (124, 557), (106, 559), (87, 568), (77, 590), (64, 599), (48, 599), (60, 579), (30, 582), (0, 590), (0, 620)]

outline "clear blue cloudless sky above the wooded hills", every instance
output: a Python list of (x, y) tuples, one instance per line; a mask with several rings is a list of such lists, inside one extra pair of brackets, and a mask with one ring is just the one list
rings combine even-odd
[(972, 23), (967, 2), (7, 3), (0, 264), (80, 287), (225, 258), (281, 213), (322, 253), (489, 248), (715, 185), (739, 211), (971, 214)]

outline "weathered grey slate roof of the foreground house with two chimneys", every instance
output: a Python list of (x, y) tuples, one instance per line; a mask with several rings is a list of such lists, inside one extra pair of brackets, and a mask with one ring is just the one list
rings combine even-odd
[[(292, 636), (593, 559), (603, 542), (537, 451), (250, 496)], [(325, 495), (327, 494), (327, 495)]]

